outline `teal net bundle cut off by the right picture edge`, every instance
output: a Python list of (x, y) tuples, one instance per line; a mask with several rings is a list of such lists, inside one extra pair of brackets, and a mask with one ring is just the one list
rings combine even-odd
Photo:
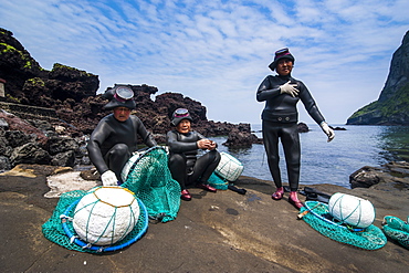
[(409, 249), (409, 223), (403, 222), (397, 217), (386, 216), (384, 218), (382, 230), (385, 234)]

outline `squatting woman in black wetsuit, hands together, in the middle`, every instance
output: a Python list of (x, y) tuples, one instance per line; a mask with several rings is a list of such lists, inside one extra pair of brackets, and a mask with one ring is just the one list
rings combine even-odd
[[(174, 130), (168, 132), (167, 145), (169, 146), (169, 169), (172, 178), (180, 183), (180, 198), (191, 200), (187, 186), (196, 187), (216, 192), (210, 187), (208, 179), (218, 167), (220, 154), (216, 150), (217, 144), (207, 139), (196, 130), (191, 130), (191, 118), (188, 109), (178, 108), (172, 114), (171, 125)], [(209, 150), (197, 158), (198, 149)]]

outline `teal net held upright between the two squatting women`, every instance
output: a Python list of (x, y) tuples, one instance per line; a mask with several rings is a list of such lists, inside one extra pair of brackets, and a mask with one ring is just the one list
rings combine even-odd
[(149, 218), (167, 222), (177, 217), (180, 186), (171, 177), (164, 147), (156, 146), (140, 155), (129, 167), (122, 186), (135, 192), (144, 202)]

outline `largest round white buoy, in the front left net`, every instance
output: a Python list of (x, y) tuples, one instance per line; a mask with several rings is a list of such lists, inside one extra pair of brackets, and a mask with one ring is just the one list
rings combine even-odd
[(97, 187), (77, 203), (73, 217), (76, 234), (94, 245), (109, 245), (124, 239), (139, 218), (135, 195), (122, 187)]

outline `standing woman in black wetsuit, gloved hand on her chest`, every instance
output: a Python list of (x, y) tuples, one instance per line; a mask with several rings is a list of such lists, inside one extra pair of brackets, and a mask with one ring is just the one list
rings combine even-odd
[(301, 147), (297, 132), (298, 112), (296, 108), (298, 101), (301, 99), (310, 116), (328, 136), (328, 141), (333, 140), (335, 134), (325, 122), (304, 83), (291, 76), (294, 61), (295, 59), (289, 49), (275, 52), (274, 61), (269, 67), (272, 71), (275, 70), (279, 75), (268, 75), (264, 78), (259, 86), (256, 99), (258, 102), (265, 102), (261, 118), (269, 168), (276, 186), (276, 191), (272, 195), (272, 198), (281, 200), (284, 196), (279, 167), (279, 138), (281, 138), (291, 190), (289, 202), (301, 209), (303, 203), (298, 200), (296, 192), (300, 182), (301, 165)]

